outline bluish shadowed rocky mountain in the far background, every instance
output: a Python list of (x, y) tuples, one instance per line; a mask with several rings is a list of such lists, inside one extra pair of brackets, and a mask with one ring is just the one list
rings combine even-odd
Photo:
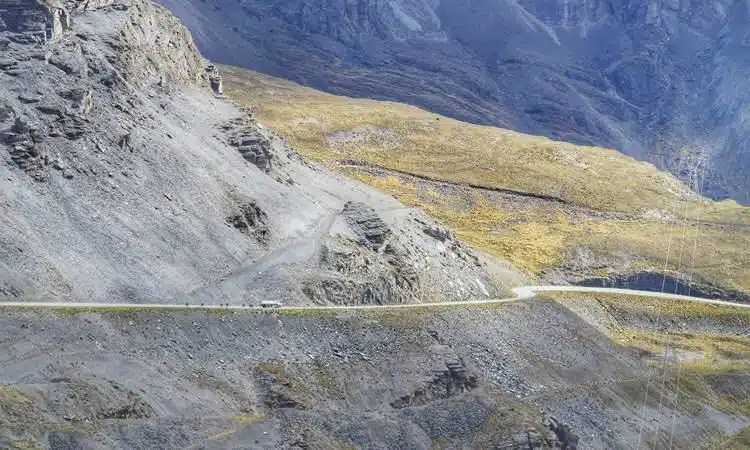
[(750, 202), (744, 0), (159, 0), (212, 59), (617, 148)]

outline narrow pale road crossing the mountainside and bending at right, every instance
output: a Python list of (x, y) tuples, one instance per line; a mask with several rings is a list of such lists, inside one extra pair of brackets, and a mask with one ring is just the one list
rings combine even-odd
[[(284, 306), (277, 309), (282, 310), (357, 310), (357, 309), (414, 309), (425, 307), (444, 307), (444, 306), (464, 306), (464, 305), (484, 305), (495, 303), (511, 303), (521, 300), (529, 300), (536, 297), (539, 292), (596, 292), (603, 294), (623, 294), (639, 297), (655, 297), (670, 300), (681, 300), (687, 302), (704, 303), (711, 305), (731, 306), (735, 308), (750, 308), (747, 303), (727, 302), (723, 300), (710, 300), (698, 297), (689, 297), (687, 295), (668, 294), (664, 292), (636, 291), (631, 289), (618, 288), (597, 288), (582, 286), (519, 286), (513, 288), (516, 295), (511, 298), (488, 298), (482, 300), (468, 300), (462, 302), (438, 302), (438, 303), (416, 303), (416, 304), (397, 304), (397, 305), (357, 305), (357, 306)], [(185, 305), (183, 304), (159, 304), (159, 303), (77, 303), (77, 302), (0, 302), (0, 308), (74, 308), (74, 309), (97, 309), (97, 310), (247, 310), (247, 306), (231, 305)]]

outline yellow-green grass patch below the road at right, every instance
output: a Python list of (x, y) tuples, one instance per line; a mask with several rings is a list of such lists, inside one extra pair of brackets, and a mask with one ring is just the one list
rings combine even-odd
[[(691, 303), (640, 296), (600, 293), (546, 292), (541, 297), (563, 303), (596, 300), (611, 307), (615, 319), (608, 324), (608, 334), (613, 342), (627, 348), (643, 350), (650, 358), (647, 364), (656, 371), (655, 379), (663, 380), (669, 390), (679, 391), (681, 406), (694, 413), (701, 411), (700, 405), (710, 405), (730, 414), (742, 414), (750, 418), (750, 393), (721, 393), (711, 386), (719, 383), (735, 383), (726, 377), (750, 376), (750, 336), (742, 330), (750, 323), (750, 310), (703, 303)], [(665, 323), (676, 319), (687, 325), (688, 331), (667, 334), (652, 330), (637, 329), (631, 325), (631, 317), (645, 314), (661, 317)], [(691, 332), (691, 322), (714, 318), (726, 320), (725, 325), (739, 325), (738, 333)], [(662, 360), (664, 349), (669, 346), (667, 365)], [(674, 356), (679, 357), (677, 364)], [(653, 369), (652, 369), (653, 370)], [(697, 402), (697, 403), (696, 403)]]

